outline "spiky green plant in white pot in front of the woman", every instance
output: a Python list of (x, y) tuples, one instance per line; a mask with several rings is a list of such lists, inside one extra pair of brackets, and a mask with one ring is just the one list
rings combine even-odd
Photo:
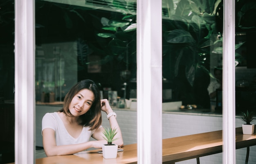
[(112, 142), (117, 140), (118, 138), (115, 138), (115, 135), (117, 134), (116, 129), (112, 128), (104, 128), (103, 131), (103, 138), (108, 141), (108, 144), (103, 144), (102, 146), (102, 153), (103, 157), (105, 159), (110, 159), (110, 158), (116, 158), (117, 157), (117, 144), (113, 144)]

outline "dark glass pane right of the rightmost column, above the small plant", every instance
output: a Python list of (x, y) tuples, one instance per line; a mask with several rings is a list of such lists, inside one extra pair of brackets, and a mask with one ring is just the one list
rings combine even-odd
[(236, 3), (236, 114), (256, 111), (256, 20), (254, 1)]

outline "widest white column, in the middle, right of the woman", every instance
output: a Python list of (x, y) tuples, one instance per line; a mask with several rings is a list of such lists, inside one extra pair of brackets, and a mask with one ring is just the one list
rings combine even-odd
[(137, 0), (139, 164), (162, 163), (162, 1)]

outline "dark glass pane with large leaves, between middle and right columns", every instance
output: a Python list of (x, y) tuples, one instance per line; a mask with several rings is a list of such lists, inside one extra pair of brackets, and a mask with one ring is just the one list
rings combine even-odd
[(215, 80), (214, 68), (222, 68), (222, 50), (216, 49), (222, 44), (218, 5), (162, 1), (163, 93), (171, 90), (171, 101), (182, 102), (181, 111), (216, 112), (216, 98), (209, 97), (208, 86)]

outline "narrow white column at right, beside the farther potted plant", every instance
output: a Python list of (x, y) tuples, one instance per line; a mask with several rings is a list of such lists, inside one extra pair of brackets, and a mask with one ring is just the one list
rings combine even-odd
[(235, 1), (224, 0), (223, 21), (223, 164), (236, 163)]

